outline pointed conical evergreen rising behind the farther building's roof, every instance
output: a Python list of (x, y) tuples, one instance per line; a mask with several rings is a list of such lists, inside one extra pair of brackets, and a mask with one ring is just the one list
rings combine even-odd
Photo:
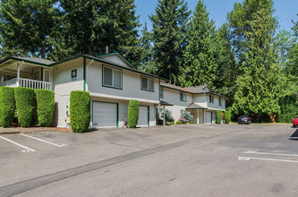
[(183, 74), (180, 81), (184, 87), (208, 84), (215, 86), (217, 80), (217, 34), (214, 21), (209, 20), (206, 5), (200, 0), (195, 8), (187, 32), (188, 45), (183, 54)]

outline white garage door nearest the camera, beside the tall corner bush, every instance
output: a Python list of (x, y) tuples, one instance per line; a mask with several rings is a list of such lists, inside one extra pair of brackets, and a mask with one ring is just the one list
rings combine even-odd
[(93, 128), (116, 126), (117, 104), (93, 102)]

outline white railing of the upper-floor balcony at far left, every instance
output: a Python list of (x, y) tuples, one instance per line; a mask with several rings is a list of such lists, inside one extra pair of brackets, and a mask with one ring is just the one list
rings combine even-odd
[(52, 83), (47, 81), (38, 81), (38, 80), (30, 80), (20, 78), (17, 81), (17, 78), (13, 78), (8, 81), (3, 81), (0, 83), (0, 86), (5, 87), (24, 87), (24, 88), (31, 88), (31, 89), (45, 89), (45, 90), (52, 90)]

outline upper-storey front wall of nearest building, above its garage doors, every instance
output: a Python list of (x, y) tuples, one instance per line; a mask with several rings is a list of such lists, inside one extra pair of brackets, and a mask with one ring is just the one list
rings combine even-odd
[[(89, 61), (87, 61), (89, 64)], [(106, 64), (109, 66), (108, 64)], [(113, 67), (113, 66), (109, 66)], [(116, 68), (116, 67), (115, 67)], [(93, 62), (86, 68), (87, 76), (86, 83), (88, 85), (89, 92), (100, 93), (118, 97), (134, 98), (134, 99), (148, 99), (155, 100), (158, 103), (159, 98), (159, 84), (158, 79), (155, 79), (154, 91), (147, 91), (140, 89), (140, 73), (132, 73), (127, 70), (123, 70), (123, 89), (114, 89), (104, 87), (102, 85), (102, 64)]]

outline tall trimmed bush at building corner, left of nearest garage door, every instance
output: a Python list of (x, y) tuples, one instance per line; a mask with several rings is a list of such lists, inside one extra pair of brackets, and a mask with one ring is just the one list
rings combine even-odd
[(87, 91), (72, 91), (70, 101), (72, 132), (84, 133), (90, 124), (90, 94)]

